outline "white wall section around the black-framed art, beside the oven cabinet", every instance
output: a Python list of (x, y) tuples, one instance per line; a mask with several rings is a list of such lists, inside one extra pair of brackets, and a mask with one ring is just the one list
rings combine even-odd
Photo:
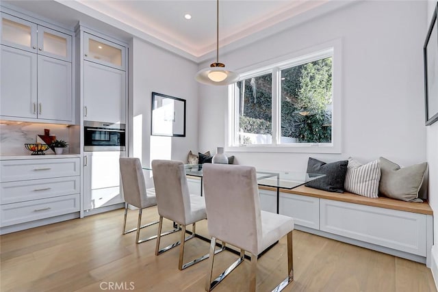
[[(187, 161), (188, 151), (198, 148), (198, 85), (194, 81), (197, 66), (137, 38), (131, 47), (133, 152), (130, 155), (139, 157), (142, 165), (150, 165), (153, 159)], [(186, 100), (185, 137), (151, 136), (152, 92)]]

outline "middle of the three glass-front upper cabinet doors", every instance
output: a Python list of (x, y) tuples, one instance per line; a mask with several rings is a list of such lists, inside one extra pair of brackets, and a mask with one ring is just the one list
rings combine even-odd
[(71, 36), (38, 25), (38, 53), (71, 62)]

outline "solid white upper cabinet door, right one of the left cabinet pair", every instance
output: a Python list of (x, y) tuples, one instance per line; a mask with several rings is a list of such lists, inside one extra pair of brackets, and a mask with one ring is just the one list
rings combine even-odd
[(71, 63), (38, 55), (38, 118), (73, 120)]

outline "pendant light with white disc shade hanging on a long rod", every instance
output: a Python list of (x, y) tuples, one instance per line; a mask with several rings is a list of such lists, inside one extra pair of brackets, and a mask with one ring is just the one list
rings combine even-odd
[(239, 79), (237, 72), (227, 70), (219, 62), (219, 0), (216, 1), (216, 62), (196, 73), (194, 79), (207, 85), (228, 85)]

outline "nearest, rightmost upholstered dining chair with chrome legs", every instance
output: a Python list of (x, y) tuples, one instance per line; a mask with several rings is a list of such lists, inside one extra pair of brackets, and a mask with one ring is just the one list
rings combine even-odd
[[(250, 291), (257, 284), (257, 258), (266, 248), (287, 235), (288, 275), (274, 290), (281, 291), (294, 279), (292, 230), (294, 219), (260, 210), (255, 168), (245, 165), (204, 164), (203, 180), (208, 230), (211, 235), (209, 269), (205, 289), (210, 291), (250, 253)], [(211, 281), (216, 240), (240, 248), (240, 258)]]

